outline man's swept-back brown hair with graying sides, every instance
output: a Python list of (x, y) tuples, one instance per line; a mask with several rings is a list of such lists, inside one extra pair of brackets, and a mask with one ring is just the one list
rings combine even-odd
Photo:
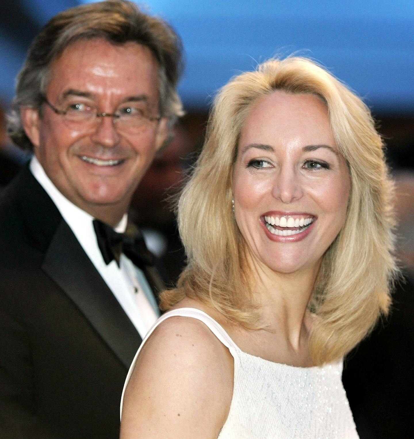
[(135, 42), (148, 47), (158, 62), (160, 114), (170, 126), (183, 114), (176, 86), (182, 71), (182, 44), (164, 20), (143, 13), (130, 1), (107, 0), (68, 9), (53, 17), (33, 40), (17, 77), (7, 133), (15, 144), (33, 150), (20, 117), (21, 107), (41, 110), (50, 66), (78, 40), (103, 38), (113, 44)]

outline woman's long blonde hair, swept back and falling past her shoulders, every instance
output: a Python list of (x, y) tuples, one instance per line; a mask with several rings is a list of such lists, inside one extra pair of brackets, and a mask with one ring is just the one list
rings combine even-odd
[(349, 166), (346, 222), (325, 252), (309, 305), (317, 316), (310, 352), (322, 364), (348, 353), (388, 311), (396, 273), (393, 184), (368, 107), (309, 59), (271, 59), (233, 78), (215, 98), (203, 150), (178, 203), (188, 265), (178, 288), (163, 293), (161, 306), (196, 298), (245, 327), (258, 327), (243, 238), (232, 214), (232, 170), (252, 105), (274, 90), (311, 93), (325, 102)]

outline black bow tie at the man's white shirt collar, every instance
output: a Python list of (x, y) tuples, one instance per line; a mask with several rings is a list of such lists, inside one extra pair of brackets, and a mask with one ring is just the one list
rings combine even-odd
[(153, 265), (154, 256), (146, 248), (141, 232), (132, 223), (128, 223), (125, 233), (115, 232), (111, 226), (99, 219), (93, 220), (93, 228), (103, 260), (107, 265), (115, 259), (119, 266), (121, 253), (139, 268)]

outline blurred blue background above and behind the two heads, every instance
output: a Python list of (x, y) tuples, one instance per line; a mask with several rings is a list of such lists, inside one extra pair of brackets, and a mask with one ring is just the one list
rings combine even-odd
[[(1, 0), (0, 98), (40, 27), (88, 0)], [(187, 109), (205, 110), (230, 77), (278, 54), (314, 58), (349, 84), (375, 113), (414, 114), (413, 0), (149, 0), (182, 37)]]

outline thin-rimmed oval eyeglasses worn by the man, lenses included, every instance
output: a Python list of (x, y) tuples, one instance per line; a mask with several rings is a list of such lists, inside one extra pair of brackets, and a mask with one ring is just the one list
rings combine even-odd
[(133, 132), (137, 129), (150, 124), (154, 120), (160, 120), (161, 115), (151, 116), (148, 114), (146, 108), (139, 102), (136, 105), (123, 104), (120, 105), (113, 113), (99, 113), (95, 105), (86, 104), (81, 101), (71, 101), (65, 104), (63, 110), (54, 107), (46, 97), (43, 101), (58, 115), (63, 116), (64, 121), (68, 126), (79, 128), (94, 127), (98, 124), (101, 117), (112, 117), (115, 126), (124, 131)]

